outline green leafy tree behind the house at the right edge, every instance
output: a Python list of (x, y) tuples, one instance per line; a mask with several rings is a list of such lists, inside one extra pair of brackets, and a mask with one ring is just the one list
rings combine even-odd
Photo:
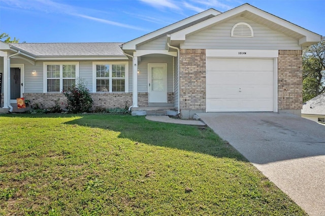
[(325, 92), (325, 40), (303, 51), (303, 101)]

